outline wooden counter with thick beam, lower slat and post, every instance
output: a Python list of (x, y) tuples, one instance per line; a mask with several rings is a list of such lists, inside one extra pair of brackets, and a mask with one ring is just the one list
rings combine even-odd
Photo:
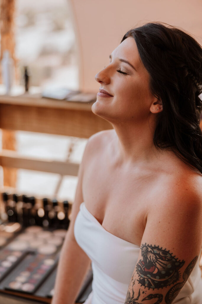
[(0, 95), (0, 128), (3, 130), (0, 165), (4, 186), (14, 187), (16, 169), (77, 176), (79, 164), (27, 158), (15, 152), (15, 131), (31, 131), (88, 138), (111, 124), (91, 111), (94, 102), (68, 102), (42, 98), (40, 94)]

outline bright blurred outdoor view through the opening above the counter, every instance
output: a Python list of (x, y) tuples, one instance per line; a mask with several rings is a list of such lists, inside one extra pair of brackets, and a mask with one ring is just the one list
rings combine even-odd
[(75, 33), (66, 0), (17, 0), (15, 55), (29, 67), (30, 85), (78, 88)]

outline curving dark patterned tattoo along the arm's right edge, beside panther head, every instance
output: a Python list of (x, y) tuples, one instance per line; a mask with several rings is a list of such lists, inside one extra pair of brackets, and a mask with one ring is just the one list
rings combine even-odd
[(193, 270), (194, 266), (196, 265), (198, 256), (194, 257), (194, 259), (191, 261), (191, 263), (187, 266), (183, 273), (183, 282), (175, 284), (166, 294), (165, 296), (165, 302), (166, 304), (171, 304), (173, 300), (177, 297), (178, 293), (180, 292), (180, 289), (184, 286), (184, 284), (187, 282), (188, 277), (190, 276), (191, 271)]

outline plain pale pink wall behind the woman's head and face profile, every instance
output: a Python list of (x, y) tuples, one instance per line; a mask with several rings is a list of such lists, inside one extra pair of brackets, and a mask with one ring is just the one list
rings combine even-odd
[(78, 44), (80, 89), (98, 92), (95, 74), (128, 29), (162, 21), (194, 35), (202, 45), (202, 0), (68, 0)]

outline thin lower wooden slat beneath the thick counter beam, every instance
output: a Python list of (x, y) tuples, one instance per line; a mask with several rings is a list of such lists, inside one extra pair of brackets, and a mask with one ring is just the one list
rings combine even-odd
[(79, 168), (79, 164), (28, 158), (11, 150), (2, 150), (0, 153), (0, 165), (8, 168), (21, 168), (72, 176), (78, 175)]

